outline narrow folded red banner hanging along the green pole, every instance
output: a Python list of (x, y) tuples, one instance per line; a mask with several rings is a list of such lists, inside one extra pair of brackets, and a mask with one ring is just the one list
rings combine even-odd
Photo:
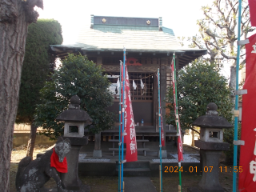
[[(173, 82), (173, 93), (174, 93), (174, 113), (175, 113), (175, 123), (176, 123), (176, 127), (178, 126), (178, 162), (183, 161), (183, 154), (182, 154), (182, 130), (181, 130), (181, 124), (179, 122), (179, 116), (178, 116), (178, 110), (176, 109), (176, 90), (175, 90), (175, 78), (174, 78), (174, 59), (171, 62), (171, 70), (172, 70), (172, 82)], [(177, 125), (177, 121), (178, 121), (178, 125)]]

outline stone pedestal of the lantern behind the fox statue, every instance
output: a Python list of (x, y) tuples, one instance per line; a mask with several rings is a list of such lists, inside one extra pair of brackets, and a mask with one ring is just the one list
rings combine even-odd
[[(66, 137), (65, 137), (66, 138)], [(74, 190), (82, 192), (85, 186), (82, 186), (82, 182), (78, 177), (78, 159), (79, 152), (82, 146), (88, 144), (88, 138), (71, 138), (70, 153), (66, 155), (66, 161), (68, 164), (68, 172), (66, 174), (61, 174), (62, 183), (65, 183), (66, 190)]]

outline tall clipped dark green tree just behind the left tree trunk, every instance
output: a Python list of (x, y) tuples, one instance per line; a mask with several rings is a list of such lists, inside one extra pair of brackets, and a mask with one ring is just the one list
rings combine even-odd
[(22, 66), (16, 122), (31, 123), (39, 90), (50, 72), (55, 58), (49, 53), (49, 45), (62, 44), (62, 26), (53, 19), (38, 19), (28, 27), (26, 53)]

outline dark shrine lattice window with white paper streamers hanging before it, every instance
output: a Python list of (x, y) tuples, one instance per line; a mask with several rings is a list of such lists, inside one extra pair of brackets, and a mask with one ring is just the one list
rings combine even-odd
[[(129, 74), (129, 81), (130, 81), (130, 97), (133, 101), (150, 101), (153, 100), (153, 84), (154, 84), (154, 74), (147, 74), (147, 73), (128, 73)], [(110, 92), (113, 94), (114, 98), (119, 97), (119, 90), (118, 90), (118, 78), (119, 73), (106, 73), (107, 78), (111, 82), (109, 87)], [(119, 81), (120, 78), (119, 78)], [(133, 82), (137, 86), (134, 89)], [(142, 89), (143, 87), (143, 89)]]

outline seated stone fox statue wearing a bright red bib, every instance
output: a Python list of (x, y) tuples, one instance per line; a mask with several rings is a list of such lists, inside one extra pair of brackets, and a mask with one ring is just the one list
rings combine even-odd
[[(16, 189), (18, 192), (35, 192), (43, 190), (50, 178), (54, 178), (58, 191), (66, 191), (58, 172), (66, 173), (66, 154), (70, 152), (70, 139), (58, 138), (54, 149), (48, 150), (34, 161), (30, 157), (22, 158), (18, 163)], [(63, 189), (64, 188), (64, 189)]]

